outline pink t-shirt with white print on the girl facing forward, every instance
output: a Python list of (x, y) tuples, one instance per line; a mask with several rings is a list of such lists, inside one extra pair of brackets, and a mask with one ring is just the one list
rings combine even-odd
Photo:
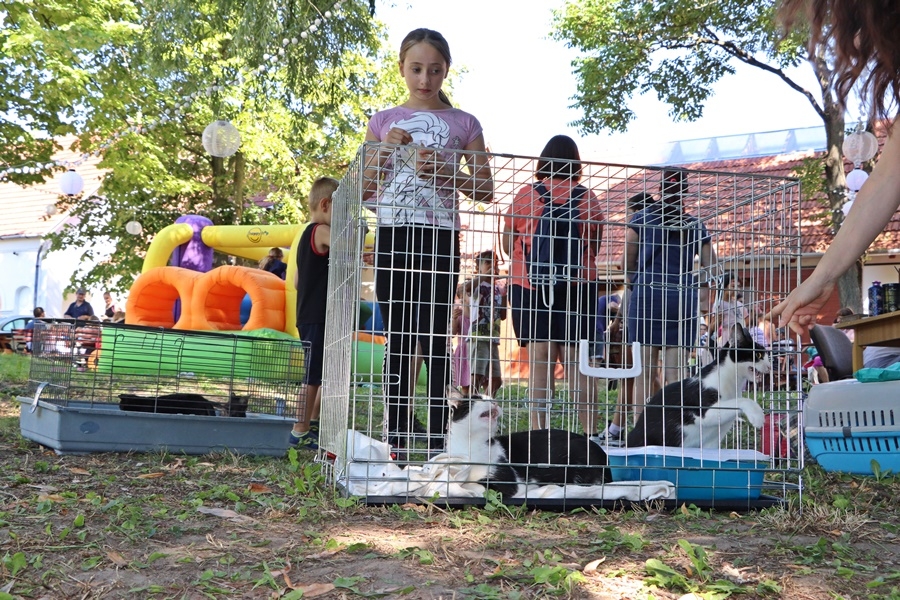
[[(461, 154), (453, 151), (462, 150), (482, 134), (478, 119), (458, 108), (414, 110), (395, 106), (372, 115), (369, 137), (383, 140), (392, 127), (409, 132), (411, 146), (442, 148), (439, 160), (451, 162), (457, 169)], [(444, 177), (417, 177), (415, 157), (403, 150), (395, 150), (381, 167), (378, 223), (459, 229), (458, 192), (453, 182)]]

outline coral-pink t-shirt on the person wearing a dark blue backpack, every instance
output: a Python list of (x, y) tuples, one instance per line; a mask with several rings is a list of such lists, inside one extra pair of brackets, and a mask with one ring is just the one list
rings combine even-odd
[[(577, 181), (545, 179), (544, 186), (550, 192), (554, 204), (564, 204), (572, 194)], [(597, 251), (603, 239), (603, 211), (600, 200), (590, 189), (578, 205), (581, 239), (584, 242), (581, 277), (584, 281), (597, 279)], [(516, 234), (513, 255), (510, 257), (509, 283), (531, 288), (525, 266), (526, 253), (531, 250), (531, 236), (544, 210), (541, 195), (529, 184), (516, 193), (512, 205), (503, 217), (506, 228)]]

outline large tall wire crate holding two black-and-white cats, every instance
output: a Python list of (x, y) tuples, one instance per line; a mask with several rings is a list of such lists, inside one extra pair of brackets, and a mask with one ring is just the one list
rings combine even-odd
[[(377, 172), (375, 155), (384, 157)], [(459, 182), (429, 178), (410, 166), (409, 150), (366, 144), (341, 181), (333, 204), (319, 442), (332, 481), (373, 504), (434, 498), (448, 504), (483, 502), (484, 488), (465, 479), (479, 470), (470, 469), (465, 457), (442, 453), (446, 400), (434, 390), (446, 383), (490, 396), (502, 413), (503, 434), (550, 427), (594, 436), (608, 453), (617, 480), (613, 485), (589, 491), (583, 488), (591, 486), (523, 486), (506, 502), (574, 506), (658, 498), (749, 508), (799, 492), (800, 340), (763, 318), (799, 281), (798, 182), (677, 170), (679, 187), (673, 191), (665, 181), (672, 170), (556, 160), (554, 169), (580, 174), (576, 181), (584, 188), (578, 192), (581, 204), (571, 213), (578, 215), (579, 225), (566, 234), (575, 240), (580, 263), (528, 292), (529, 265), (537, 260), (529, 240), (538, 239), (538, 202), (544, 198), (536, 186), (539, 159), (490, 153), (483, 158), (490, 165), (493, 203), (477, 203), (460, 193), (455, 207), (404, 207), (407, 216), (427, 212), (424, 220), (413, 216), (412, 222), (455, 224), (458, 251), (455, 240), (445, 244), (452, 260), (443, 266), (436, 266), (435, 254), (444, 252), (437, 235), (410, 242), (379, 224), (374, 190), (402, 181), (419, 189), (419, 201), (427, 202), (422, 194), (437, 194), (440, 186), (465, 192), (471, 169), (459, 175)], [(458, 162), (453, 156), (447, 161)], [(570, 185), (564, 195), (574, 189)], [(554, 193), (549, 196), (557, 202)], [(648, 220), (648, 203), (664, 200), (680, 210), (670, 214), (668, 208), (653, 208), (663, 222)], [(641, 270), (652, 270), (653, 261), (641, 256), (640, 240), (653, 235), (679, 240), (660, 244), (666, 248), (662, 252), (672, 254), (658, 263), (674, 276), (642, 277)], [(493, 257), (492, 267), (479, 267), (490, 264), (484, 253)], [(446, 287), (438, 282), (445, 271), (452, 280), (450, 293), (438, 289)], [(626, 283), (633, 285), (622, 298)], [(420, 289), (425, 285), (431, 287)], [(487, 293), (475, 291), (482, 286)], [(617, 295), (622, 321), (611, 330), (617, 314), (611, 300)], [(604, 296), (608, 302), (601, 302)], [(634, 296), (643, 296), (643, 304)], [(412, 308), (397, 304), (403, 301), (412, 302)], [(731, 329), (728, 311), (734, 314), (738, 304), (735, 318), (766, 346), (771, 368), (759, 368), (723, 394), (755, 401), (764, 424), (752, 426), (738, 418), (718, 432), (718, 447), (702, 450), (677, 443), (616, 449), (596, 437), (614, 420), (625, 433), (633, 428), (639, 406), (662, 387), (654, 382), (665, 378), (680, 386), (679, 393), (689, 393), (677, 382), (716, 360), (716, 347), (727, 342)], [(557, 312), (545, 329), (541, 319), (548, 306)], [(628, 314), (635, 307), (643, 314)], [(392, 314), (379, 321), (372, 314), (379, 309)], [(396, 317), (398, 312), (403, 316)], [(643, 331), (647, 327), (674, 331), (675, 341), (653, 343)], [(643, 367), (637, 377), (626, 377), (623, 370), (634, 364), (632, 340), (647, 340), (633, 357)], [(658, 355), (653, 351), (657, 344), (662, 346)], [(596, 377), (598, 372), (603, 376)], [(543, 466), (578, 469), (565, 461)], [(660, 482), (669, 488), (657, 486)]]

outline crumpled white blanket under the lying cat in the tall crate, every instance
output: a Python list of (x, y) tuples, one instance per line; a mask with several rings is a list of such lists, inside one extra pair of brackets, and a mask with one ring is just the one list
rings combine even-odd
[[(433, 498), (480, 498), (484, 486), (469, 481), (471, 465), (460, 457), (440, 454), (421, 466), (400, 468), (391, 461), (390, 446), (358, 431), (347, 432), (349, 460), (337, 457), (346, 470), (337, 474), (353, 496), (413, 496)], [(673, 498), (675, 486), (669, 481), (622, 481), (603, 485), (520, 485), (513, 498), (656, 500)]]

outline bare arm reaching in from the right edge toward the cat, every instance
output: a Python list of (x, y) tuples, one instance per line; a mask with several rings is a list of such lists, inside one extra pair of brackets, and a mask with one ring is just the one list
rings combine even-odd
[(802, 334), (815, 325), (837, 280), (884, 231), (900, 206), (900, 132), (893, 130), (871, 177), (812, 275), (772, 309), (779, 326)]

